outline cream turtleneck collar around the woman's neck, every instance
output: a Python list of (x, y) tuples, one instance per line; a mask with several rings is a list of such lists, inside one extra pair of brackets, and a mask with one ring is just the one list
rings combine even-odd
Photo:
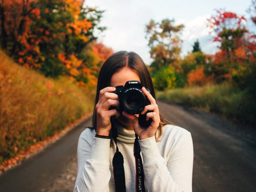
[(127, 130), (121, 125), (119, 125), (116, 121), (114, 121), (114, 124), (118, 132), (118, 137), (116, 138), (117, 140), (125, 143), (134, 143), (134, 140), (135, 140), (134, 130)]

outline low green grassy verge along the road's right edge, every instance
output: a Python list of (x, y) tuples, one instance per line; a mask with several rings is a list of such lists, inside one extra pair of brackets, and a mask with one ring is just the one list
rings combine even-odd
[(157, 92), (156, 98), (217, 113), (235, 122), (256, 125), (255, 98), (247, 90), (241, 91), (228, 83)]

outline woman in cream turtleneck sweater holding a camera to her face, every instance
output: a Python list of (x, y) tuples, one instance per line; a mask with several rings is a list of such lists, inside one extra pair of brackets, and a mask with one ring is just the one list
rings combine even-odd
[[(152, 119), (147, 128), (138, 123), (139, 114), (129, 114), (126, 111), (120, 114), (117, 110), (119, 99), (113, 91), (116, 86), (124, 86), (131, 80), (141, 82), (141, 90), (150, 101), (141, 111), (141, 114), (147, 113), (146, 120)], [(145, 88), (149, 88), (151, 94)], [(110, 110), (111, 106), (116, 109)], [(114, 179), (112, 167), (113, 156), (118, 151), (115, 138), (111, 136), (113, 126), (118, 133), (117, 147), (124, 157), (122, 165), (126, 192), (143, 191), (143, 184), (145, 191), (192, 191), (191, 134), (159, 114), (152, 79), (146, 65), (136, 53), (117, 52), (104, 62), (98, 77), (92, 124), (93, 128), (85, 129), (78, 140), (75, 192), (112, 192), (118, 188), (120, 177), (115, 176)], [(139, 137), (143, 162), (141, 170), (145, 183), (137, 175), (141, 172), (138, 166), (142, 168), (142, 165), (138, 165), (137, 158), (135, 162), (133, 154), (135, 136)]]

